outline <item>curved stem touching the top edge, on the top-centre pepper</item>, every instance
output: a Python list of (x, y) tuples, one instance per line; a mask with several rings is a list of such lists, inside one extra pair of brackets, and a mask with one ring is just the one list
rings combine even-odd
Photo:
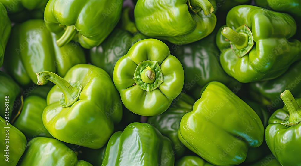
[(198, 13), (202, 9), (206, 16), (214, 11), (212, 4), (208, 0), (188, 0), (188, 8), (194, 13)]

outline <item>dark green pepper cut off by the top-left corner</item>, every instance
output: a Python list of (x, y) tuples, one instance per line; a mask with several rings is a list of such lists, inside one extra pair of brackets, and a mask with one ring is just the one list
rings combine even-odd
[[(12, 22), (42, 19), (48, 0), (0, 0)], [(3, 10), (1, 10), (3, 12)]]

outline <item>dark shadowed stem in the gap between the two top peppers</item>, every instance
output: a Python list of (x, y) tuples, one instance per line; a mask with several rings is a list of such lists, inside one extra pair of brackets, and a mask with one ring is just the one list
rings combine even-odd
[(129, 7), (126, 7), (126, 8), (123, 9), (122, 15), (121, 15), (121, 27), (123, 29), (131, 32), (132, 34), (134, 34), (138, 30), (136, 28), (135, 23), (131, 21), (129, 13), (130, 13), (130, 8)]

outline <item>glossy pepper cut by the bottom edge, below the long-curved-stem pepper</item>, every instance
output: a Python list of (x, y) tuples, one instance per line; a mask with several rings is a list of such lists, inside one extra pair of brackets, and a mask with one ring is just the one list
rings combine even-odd
[(61, 141), (46, 137), (33, 138), (18, 165), (92, 166), (86, 161), (77, 160), (76, 154)]

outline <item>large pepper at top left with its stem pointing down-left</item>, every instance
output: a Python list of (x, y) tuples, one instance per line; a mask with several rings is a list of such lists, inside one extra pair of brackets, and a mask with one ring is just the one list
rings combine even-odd
[[(70, 40), (79, 41), (86, 49), (98, 46), (120, 19), (123, 0), (50, 0), (46, 5), (46, 27), (61, 38), (58, 46)], [(97, 21), (95, 21), (97, 20)]]

